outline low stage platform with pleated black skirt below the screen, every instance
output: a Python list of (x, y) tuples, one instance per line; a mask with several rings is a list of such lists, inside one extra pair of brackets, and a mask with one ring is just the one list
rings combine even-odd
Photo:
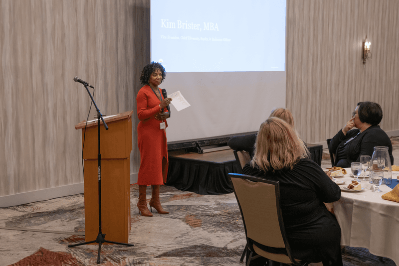
[[(323, 146), (307, 144), (313, 161), (321, 165)], [(200, 195), (233, 192), (228, 173), (241, 173), (232, 149), (208, 153), (170, 150), (167, 185)]]

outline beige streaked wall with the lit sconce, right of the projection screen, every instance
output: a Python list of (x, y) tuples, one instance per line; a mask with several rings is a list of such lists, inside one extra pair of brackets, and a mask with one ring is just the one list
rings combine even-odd
[(325, 143), (361, 101), (381, 105), (382, 129), (399, 129), (398, 25), (398, 0), (287, 0), (286, 106), (304, 141)]

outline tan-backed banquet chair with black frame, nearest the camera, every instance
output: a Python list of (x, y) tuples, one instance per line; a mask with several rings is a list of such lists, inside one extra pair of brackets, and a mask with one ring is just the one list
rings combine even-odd
[[(259, 256), (283, 264), (309, 265), (292, 256), (280, 207), (279, 182), (244, 174), (229, 173), (228, 176), (244, 224), (248, 248), (246, 265)], [(252, 257), (254, 253), (257, 256)]]

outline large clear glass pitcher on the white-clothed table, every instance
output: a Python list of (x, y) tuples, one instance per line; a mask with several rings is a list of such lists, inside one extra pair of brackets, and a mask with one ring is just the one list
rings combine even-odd
[(383, 185), (392, 184), (391, 158), (388, 147), (375, 146), (370, 164), (369, 167), (371, 170), (380, 170), (384, 172)]

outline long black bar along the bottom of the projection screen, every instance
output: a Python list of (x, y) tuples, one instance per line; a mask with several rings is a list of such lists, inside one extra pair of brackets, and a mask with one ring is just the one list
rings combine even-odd
[(254, 133), (257, 133), (257, 131), (246, 132), (246, 133), (236, 133), (236, 134), (229, 134), (229, 135), (221, 135), (221, 136), (204, 137), (204, 138), (195, 138), (195, 139), (188, 139), (188, 140), (171, 141), (171, 142), (168, 142), (168, 150), (194, 148), (197, 146), (197, 143), (199, 143), (201, 147), (209, 146), (209, 145), (220, 145), (220, 144), (227, 145), (227, 141), (233, 136), (243, 136), (243, 135), (254, 134)]

